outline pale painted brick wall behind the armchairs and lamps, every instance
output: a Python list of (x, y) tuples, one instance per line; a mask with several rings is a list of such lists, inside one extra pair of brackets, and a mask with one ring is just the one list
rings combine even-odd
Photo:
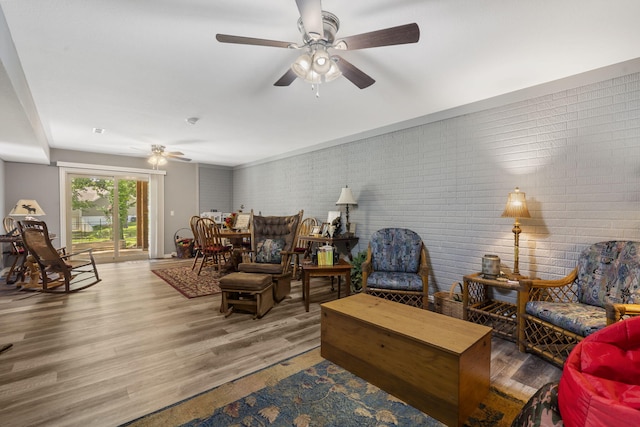
[[(640, 73), (571, 86), (381, 136), (237, 168), (234, 206), (326, 218), (344, 184), (366, 248), (382, 227), (426, 244), (431, 292), (481, 269), (513, 266), (507, 194), (527, 194), (520, 272), (559, 278), (587, 245), (640, 240)], [(504, 97), (512, 100), (513, 96)]]

